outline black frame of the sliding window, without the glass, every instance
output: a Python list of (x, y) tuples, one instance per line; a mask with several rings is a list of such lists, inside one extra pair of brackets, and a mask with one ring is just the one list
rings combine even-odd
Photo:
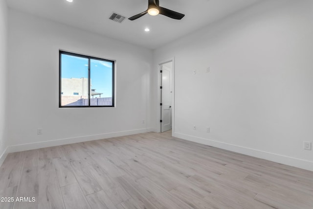
[[(88, 59), (88, 104), (85, 106), (62, 106), (61, 105), (61, 85), (62, 85), (62, 54), (70, 55), (70, 56), (76, 56), (76, 57), (83, 57)], [(94, 106), (90, 105), (90, 59), (93, 60), (100, 60), (100, 61), (105, 61), (105, 62), (111, 62), (112, 63), (112, 105), (106, 105), (106, 106)], [(59, 50), (59, 108), (90, 108), (90, 107), (115, 107), (115, 60), (109, 60), (109, 59), (104, 59), (104, 58), (99, 58), (99, 57), (93, 57), (93, 56), (88, 56), (88, 55), (83, 55), (83, 54), (77, 54), (73, 52), (68, 52), (68, 51), (63, 51)]]

